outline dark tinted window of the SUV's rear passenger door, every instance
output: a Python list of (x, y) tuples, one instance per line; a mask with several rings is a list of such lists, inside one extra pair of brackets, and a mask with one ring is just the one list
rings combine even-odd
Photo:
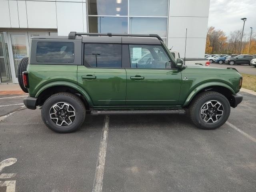
[(121, 44), (84, 44), (84, 65), (88, 67), (122, 67)]

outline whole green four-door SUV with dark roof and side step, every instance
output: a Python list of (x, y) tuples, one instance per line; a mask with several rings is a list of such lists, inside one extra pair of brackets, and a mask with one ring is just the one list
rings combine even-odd
[[(24, 104), (42, 109), (55, 132), (77, 130), (86, 114), (189, 114), (199, 128), (215, 129), (242, 96), (234, 68), (186, 66), (158, 35), (70, 32), (34, 36), (19, 64)], [(144, 55), (144, 62), (138, 62)]]

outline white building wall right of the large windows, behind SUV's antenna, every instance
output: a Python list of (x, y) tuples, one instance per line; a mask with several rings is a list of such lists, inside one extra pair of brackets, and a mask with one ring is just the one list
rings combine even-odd
[(204, 58), (210, 0), (170, 0), (168, 48), (184, 58)]

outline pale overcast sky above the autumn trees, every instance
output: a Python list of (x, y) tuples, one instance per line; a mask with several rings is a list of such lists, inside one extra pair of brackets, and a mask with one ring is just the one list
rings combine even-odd
[(227, 36), (230, 32), (242, 29), (247, 18), (244, 32), (250, 33), (250, 27), (256, 32), (256, 0), (210, 0), (208, 27), (222, 29)]

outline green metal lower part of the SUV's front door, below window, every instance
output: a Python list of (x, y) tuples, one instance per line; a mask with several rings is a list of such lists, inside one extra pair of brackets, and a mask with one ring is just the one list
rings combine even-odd
[[(178, 69), (126, 69), (127, 106), (174, 106), (180, 96)], [(141, 76), (142, 80), (131, 79)]]

